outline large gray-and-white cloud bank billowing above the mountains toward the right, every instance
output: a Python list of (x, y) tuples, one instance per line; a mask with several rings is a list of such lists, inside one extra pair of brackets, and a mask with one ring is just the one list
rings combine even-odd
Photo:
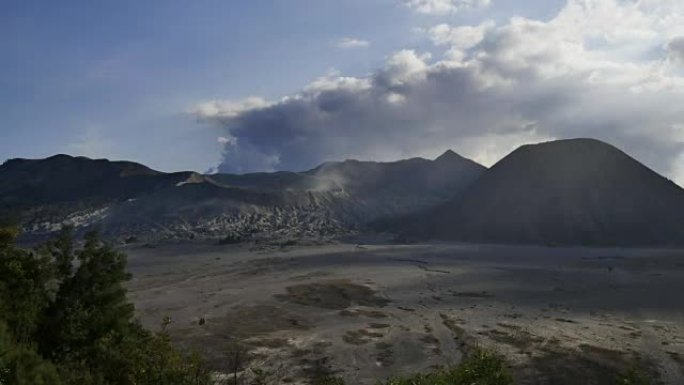
[(280, 100), (199, 103), (223, 131), (219, 170), (447, 148), (491, 165), (523, 143), (594, 137), (684, 182), (684, 2), (569, 0), (548, 21), (440, 24), (427, 38), (441, 57), (403, 50), (370, 76), (324, 76)]

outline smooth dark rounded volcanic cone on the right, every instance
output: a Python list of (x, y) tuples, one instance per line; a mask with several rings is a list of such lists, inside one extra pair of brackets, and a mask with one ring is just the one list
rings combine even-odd
[(499, 243), (684, 242), (684, 190), (591, 139), (520, 147), (457, 199), (405, 226), (411, 236)]

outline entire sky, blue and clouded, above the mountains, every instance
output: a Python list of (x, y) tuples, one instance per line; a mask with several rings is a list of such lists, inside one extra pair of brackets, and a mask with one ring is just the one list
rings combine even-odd
[[(5, 0), (0, 4), (0, 159), (71, 153), (125, 158), (161, 170), (205, 171), (218, 166), (223, 171), (243, 172), (313, 167), (320, 161), (346, 157), (389, 160), (433, 156), (454, 148), (491, 164), (510, 147), (523, 142), (596, 136), (636, 152), (649, 165), (676, 177), (679, 171), (675, 163), (681, 153), (678, 133), (638, 145), (645, 135), (658, 132), (662, 136), (665, 131), (671, 134), (678, 129), (680, 115), (674, 106), (665, 106), (669, 120), (645, 119), (640, 123), (648, 125), (651, 131), (636, 134), (625, 122), (599, 112), (586, 117), (586, 129), (560, 130), (551, 125), (565, 127), (565, 122), (558, 122), (555, 117), (579, 109), (591, 110), (595, 106), (592, 101), (622, 94), (625, 89), (643, 83), (639, 78), (642, 74), (630, 72), (628, 66), (605, 65), (606, 60), (650, 66), (658, 60), (674, 63), (678, 52), (674, 42), (681, 31), (674, 24), (662, 28), (663, 23), (658, 23), (662, 15), (657, 15), (655, 9), (658, 3), (667, 3), (672, 7), (670, 13), (680, 16), (681, 6), (668, 0), (648, 0), (642, 2), (646, 5), (638, 6), (618, 0), (580, 3)], [(610, 14), (623, 11), (636, 16), (617, 23), (610, 20)], [(568, 32), (572, 28), (569, 29), (567, 20), (581, 23), (577, 20), (581, 20), (582, 12), (589, 18), (596, 15), (596, 23), (575, 27), (595, 33), (577, 32), (581, 35), (583, 51), (579, 56), (583, 60), (575, 62), (569, 59), (574, 57), (569, 53), (577, 49), (575, 46), (568, 46), (567, 56), (557, 47), (565, 47), (563, 42), (573, 40), (574, 32)], [(644, 27), (640, 17), (653, 19), (652, 23)], [(435, 29), (439, 25), (442, 29)], [(478, 26), (478, 31), (484, 31), (478, 35), (479, 40), (460, 47), (464, 36), (472, 39), (472, 34), (458, 28)], [(548, 29), (541, 36), (559, 39), (559, 44), (540, 40), (532, 33), (535, 28)], [(644, 38), (639, 40), (641, 45), (620, 40), (622, 35), (638, 28), (645, 28), (658, 39)], [(442, 35), (438, 36), (440, 31)], [(341, 47), (345, 38), (361, 43)], [(670, 41), (673, 43), (668, 45)], [(503, 49), (504, 45), (511, 48)], [(530, 46), (538, 46), (538, 52), (530, 53)], [(675, 48), (669, 54), (663, 53), (666, 46)], [(509, 51), (514, 49), (518, 51), (511, 51), (511, 56)], [(643, 53), (647, 51), (648, 55)], [(394, 56), (398, 52), (407, 54)], [(458, 52), (457, 58), (454, 52)], [(539, 65), (525, 64), (529, 68), (524, 71), (512, 67), (515, 63), (511, 57), (526, 54), (543, 60), (539, 60)], [(554, 55), (557, 57), (547, 60)], [(573, 61), (567, 65), (569, 70), (548, 76), (549, 68), (555, 71), (569, 60)], [(308, 115), (310, 107), (319, 108), (321, 98), (340, 97), (341, 92), (345, 98), (356, 101), (371, 98), (363, 100), (372, 103), (374, 96), (369, 95), (380, 92), (378, 79), (384, 79), (383, 74), (413, 71), (414, 65), (417, 67), (413, 73), (420, 76), (402, 80), (400, 85), (392, 83), (382, 90), (406, 103), (401, 116), (392, 111), (377, 115), (360, 112), (355, 106), (340, 107), (327, 120), (302, 120), (313, 116)], [(486, 79), (494, 79), (492, 68), (496, 67), (498, 78), (509, 77), (519, 84), (528, 82), (534, 88), (525, 88), (524, 97), (530, 100), (522, 104), (516, 103), (520, 90), (511, 90), (503, 81), (494, 86), (487, 83), (486, 92), (480, 87), (457, 94), (463, 85), (455, 83), (445, 90), (431, 86), (435, 91), (426, 93), (420, 79), (444, 75), (440, 71), (446, 66), (452, 66), (451, 75), (454, 67), (461, 68), (459, 71), (477, 68), (477, 73), (486, 74)], [(681, 91), (676, 82), (681, 75), (678, 71), (670, 68), (667, 72), (674, 79), (668, 84), (677, 92)], [(471, 79), (473, 73), (457, 76), (467, 75)], [(605, 79), (600, 86), (596, 85), (596, 74)], [(580, 75), (586, 81), (584, 88), (577, 87)], [(386, 78), (396, 80), (392, 76)], [(625, 77), (632, 79), (632, 83), (625, 83)], [(336, 85), (311, 91), (311, 85), (322, 78)], [(342, 78), (365, 81), (367, 86), (353, 91), (339, 88)], [(478, 81), (484, 82), (483, 79)], [(615, 79), (622, 82), (619, 87), (614, 85), (618, 82)], [(440, 99), (425, 105), (410, 103), (411, 95), (419, 94)], [(543, 96), (535, 99), (535, 95)], [(258, 97), (265, 104), (234, 113), (235, 103), (248, 97)], [(283, 102), (283, 97), (298, 100), (296, 108), (292, 101)], [(480, 99), (486, 104), (471, 105)], [(553, 119), (539, 111), (530, 113), (534, 109), (530, 105), (556, 99), (566, 101), (564, 106), (572, 101), (574, 108), (549, 107), (558, 109), (554, 110), (557, 115)], [(198, 106), (208, 102), (223, 110), (198, 113)], [(644, 105), (659, 102), (653, 94), (648, 95)], [(445, 103), (444, 109), (435, 107)], [(453, 108), (448, 103), (454, 103)], [(634, 101), (614, 103), (617, 108), (628, 108)], [(226, 109), (233, 112), (229, 114)], [(444, 112), (450, 109), (460, 111), (460, 115)], [(425, 111), (433, 112), (425, 115)], [(492, 115), (492, 111), (506, 115), (496, 121), (478, 118)], [(639, 117), (651, 113), (638, 112)], [(411, 124), (397, 125), (397, 119)], [(630, 119), (633, 122), (641, 118), (635, 115)], [(267, 127), (260, 125), (264, 121), (268, 122)], [(458, 122), (469, 122), (470, 128), (462, 128)], [(355, 126), (351, 127), (352, 124)], [(515, 125), (527, 128), (516, 131), (511, 128)], [(398, 126), (402, 127), (395, 128)], [(529, 127), (533, 126), (531, 132)], [(357, 127), (360, 129), (355, 131)], [(279, 143), (269, 141), (275, 137), (281, 137)], [(388, 137), (392, 140), (386, 143)], [(663, 150), (667, 151), (668, 159), (657, 159), (655, 154), (662, 155)]]

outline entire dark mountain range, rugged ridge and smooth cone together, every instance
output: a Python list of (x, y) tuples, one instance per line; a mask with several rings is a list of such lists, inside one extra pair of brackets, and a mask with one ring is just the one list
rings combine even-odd
[(248, 174), (14, 159), (0, 166), (3, 210), (34, 235), (71, 223), (115, 239), (330, 239), (374, 229), (406, 240), (684, 244), (684, 190), (591, 138), (523, 145), (490, 169), (451, 150)]

